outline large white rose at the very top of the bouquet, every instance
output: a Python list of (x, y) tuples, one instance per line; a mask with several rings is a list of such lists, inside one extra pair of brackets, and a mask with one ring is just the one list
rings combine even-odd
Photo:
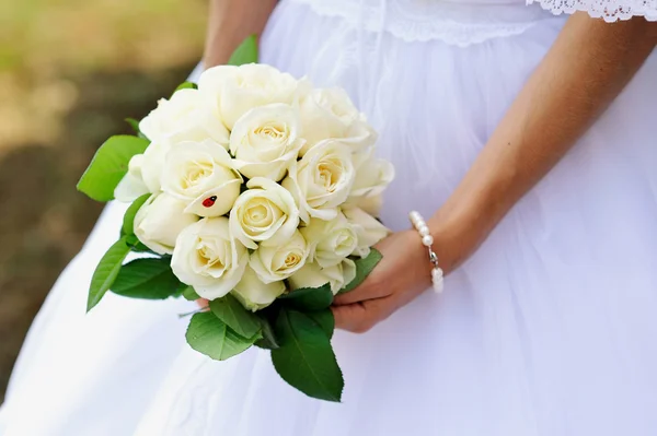
[(232, 130), (238, 119), (254, 107), (293, 103), (298, 82), (290, 74), (265, 64), (219, 66), (200, 74), (198, 91), (209, 96), (226, 127)]

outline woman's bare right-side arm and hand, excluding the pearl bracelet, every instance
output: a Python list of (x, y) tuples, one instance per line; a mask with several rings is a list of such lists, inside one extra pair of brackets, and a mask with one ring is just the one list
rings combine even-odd
[[(449, 273), (488, 236), (623, 90), (657, 44), (657, 23), (614, 24), (574, 14), (448, 201), (428, 220)], [(430, 285), (414, 231), (379, 247), (384, 258), (359, 288), (336, 298), (339, 328), (362, 332)], [(385, 256), (390, 254), (390, 256)]]

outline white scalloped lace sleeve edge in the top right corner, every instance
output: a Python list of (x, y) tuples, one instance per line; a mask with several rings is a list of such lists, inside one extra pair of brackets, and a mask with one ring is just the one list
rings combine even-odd
[(609, 23), (633, 16), (657, 21), (657, 0), (527, 0), (527, 4), (533, 2), (557, 15), (584, 11)]

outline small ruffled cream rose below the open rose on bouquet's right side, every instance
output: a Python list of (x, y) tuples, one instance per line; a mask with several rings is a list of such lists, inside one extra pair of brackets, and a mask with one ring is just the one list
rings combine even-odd
[(358, 236), (342, 212), (331, 221), (310, 220), (300, 232), (310, 248), (309, 261), (322, 268), (342, 262), (358, 246)]

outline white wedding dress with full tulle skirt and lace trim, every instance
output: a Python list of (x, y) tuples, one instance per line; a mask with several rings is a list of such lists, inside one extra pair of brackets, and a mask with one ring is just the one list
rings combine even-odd
[[(543, 5), (657, 19), (655, 0)], [(396, 166), (382, 217), (407, 228), (452, 192), (566, 17), (517, 0), (284, 0), (261, 61), (349, 92)], [(38, 315), (1, 436), (657, 435), (657, 51), (442, 295), (336, 333), (342, 404), (293, 390), (257, 349), (192, 351), (177, 314), (193, 303), (110, 295), (85, 316), (123, 211), (106, 209)]]

